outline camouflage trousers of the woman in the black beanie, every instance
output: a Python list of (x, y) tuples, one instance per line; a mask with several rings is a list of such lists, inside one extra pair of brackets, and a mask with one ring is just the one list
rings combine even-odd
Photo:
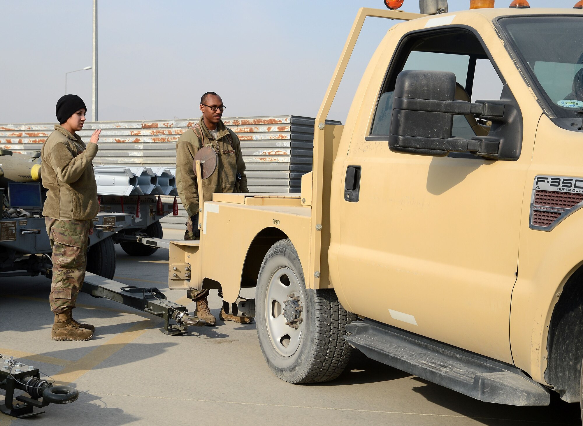
[(87, 265), (87, 239), (92, 220), (57, 220), (45, 217), (52, 247), (52, 283), (49, 301), (57, 314), (75, 308)]

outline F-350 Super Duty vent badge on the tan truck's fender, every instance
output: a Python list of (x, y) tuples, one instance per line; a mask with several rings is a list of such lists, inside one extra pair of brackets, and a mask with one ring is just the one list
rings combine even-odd
[(538, 175), (532, 186), (531, 229), (550, 231), (583, 207), (583, 178)]

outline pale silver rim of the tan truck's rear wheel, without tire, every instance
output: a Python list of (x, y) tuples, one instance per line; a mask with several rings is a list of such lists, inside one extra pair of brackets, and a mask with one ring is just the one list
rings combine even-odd
[(300, 295), (296, 274), (287, 266), (279, 267), (269, 280), (264, 309), (271, 343), (284, 357), (290, 357), (300, 347), (304, 328)]

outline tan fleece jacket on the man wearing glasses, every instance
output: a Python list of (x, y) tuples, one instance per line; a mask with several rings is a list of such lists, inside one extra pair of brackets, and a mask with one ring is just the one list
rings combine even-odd
[[(217, 129), (219, 133), (215, 140), (201, 117), (198, 127), (182, 133), (176, 143), (176, 186), (188, 217), (198, 213), (198, 185), (196, 175), (192, 170), (192, 162), (196, 152), (203, 146), (212, 147), (219, 157), (215, 172), (202, 181), (205, 201), (212, 200), (213, 192), (235, 192), (237, 173), (241, 174), (238, 192), (249, 192), (239, 138), (224, 125), (222, 120), (219, 121)], [(201, 138), (196, 133), (201, 135)]]

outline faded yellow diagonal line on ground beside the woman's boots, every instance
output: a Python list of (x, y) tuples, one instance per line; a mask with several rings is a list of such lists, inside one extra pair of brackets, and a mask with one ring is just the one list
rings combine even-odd
[(131, 326), (125, 332), (112, 337), (110, 340), (106, 341), (106, 343), (94, 348), (90, 353), (85, 355), (85, 357), (79, 358), (77, 361), (70, 362), (57, 374), (53, 374), (52, 378), (54, 378), (58, 384), (66, 385), (68, 383), (75, 382), (87, 371), (90, 371), (97, 365), (101, 364), (101, 362), (107, 360), (107, 358), (111, 357), (111, 355), (124, 348), (124, 346), (126, 346), (128, 343), (131, 343), (139, 336), (142, 336), (143, 333), (146, 333), (155, 325), (156, 324), (153, 321), (148, 320), (141, 321)]

